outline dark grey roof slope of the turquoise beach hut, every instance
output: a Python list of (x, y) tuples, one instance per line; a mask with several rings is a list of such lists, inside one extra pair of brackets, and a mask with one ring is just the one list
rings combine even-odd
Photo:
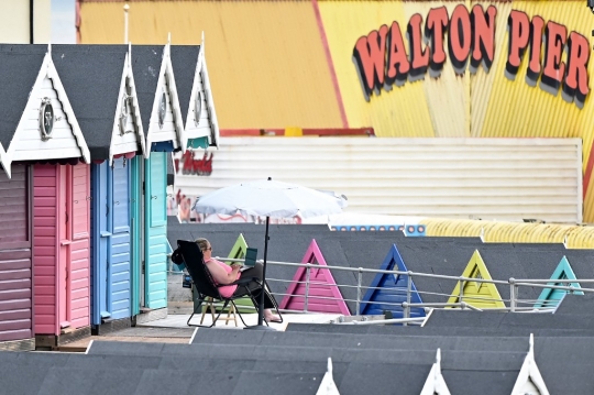
[[(164, 51), (164, 45), (134, 45), (132, 47), (132, 72), (145, 135), (148, 134)], [(151, 150), (150, 146), (146, 149)]]

